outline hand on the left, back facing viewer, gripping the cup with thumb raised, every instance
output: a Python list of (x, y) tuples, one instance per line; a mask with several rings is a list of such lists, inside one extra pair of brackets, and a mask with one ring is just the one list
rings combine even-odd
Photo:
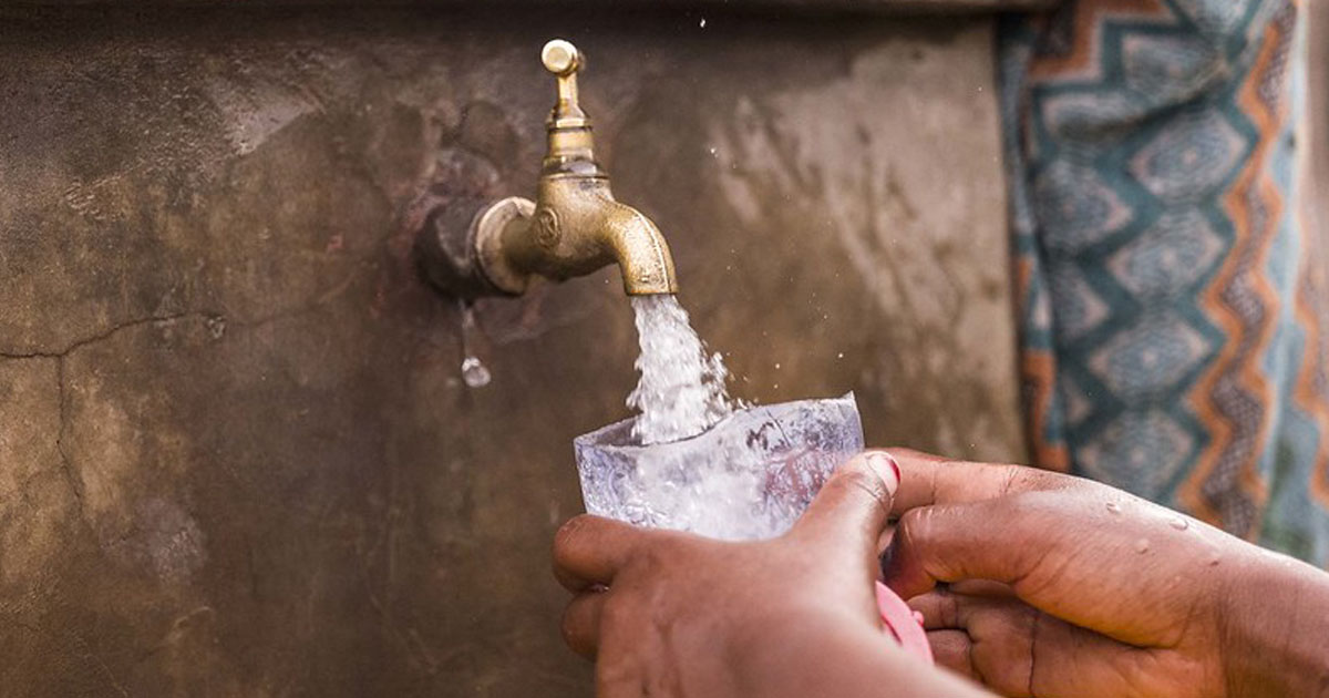
[(981, 695), (881, 626), (877, 541), (898, 483), (889, 456), (860, 456), (789, 533), (759, 542), (569, 521), (554, 542), (554, 573), (577, 594), (563, 636), (597, 659), (597, 694)]

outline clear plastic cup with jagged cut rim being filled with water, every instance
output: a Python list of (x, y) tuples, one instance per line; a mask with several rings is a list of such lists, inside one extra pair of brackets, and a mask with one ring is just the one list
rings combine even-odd
[(578, 436), (586, 511), (726, 540), (789, 529), (827, 476), (863, 451), (853, 394), (735, 411), (682, 441), (641, 445), (633, 420)]

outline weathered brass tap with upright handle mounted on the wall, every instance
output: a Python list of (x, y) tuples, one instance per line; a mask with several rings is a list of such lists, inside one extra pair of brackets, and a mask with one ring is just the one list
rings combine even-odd
[[(674, 259), (659, 229), (637, 209), (619, 203), (609, 189), (609, 174), (595, 161), (590, 118), (577, 96), (577, 72), (585, 56), (556, 39), (541, 52), (545, 68), (558, 80), (558, 101), (545, 124), (549, 152), (540, 174), (536, 201), (509, 197), (480, 210), (466, 235), (465, 259), (474, 270), (429, 269), (439, 254), (424, 241), (425, 270), (436, 283), (460, 295), (481, 295), (488, 289), (509, 295), (525, 292), (533, 275), (553, 281), (590, 274), (617, 262), (629, 295), (678, 292)], [(444, 231), (427, 231), (429, 238)], [(435, 246), (456, 249), (447, 241)], [(449, 255), (443, 255), (444, 258)], [(447, 259), (444, 259), (447, 262)], [(456, 279), (465, 283), (457, 283)], [(490, 292), (493, 292), (490, 291)]]

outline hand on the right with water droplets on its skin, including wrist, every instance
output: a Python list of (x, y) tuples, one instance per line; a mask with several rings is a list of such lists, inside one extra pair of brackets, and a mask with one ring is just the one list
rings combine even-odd
[(1329, 576), (1088, 480), (893, 453), (882, 568), (938, 663), (1005, 695), (1329, 694)]

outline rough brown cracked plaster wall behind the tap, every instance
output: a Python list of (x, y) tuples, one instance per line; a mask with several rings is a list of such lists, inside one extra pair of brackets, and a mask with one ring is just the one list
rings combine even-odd
[(533, 190), (552, 35), (736, 392), (1022, 453), (983, 21), (0, 19), (5, 695), (589, 693), (548, 545), (618, 282), (482, 303), (468, 390), (405, 225), (459, 162)]

